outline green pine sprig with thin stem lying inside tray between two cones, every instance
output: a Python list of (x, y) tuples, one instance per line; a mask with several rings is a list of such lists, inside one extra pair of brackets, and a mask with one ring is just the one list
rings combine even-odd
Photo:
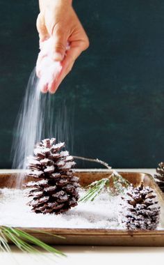
[[(88, 185), (86, 188), (88, 188), (88, 191), (79, 199), (79, 202), (88, 202), (93, 201), (104, 188), (107, 188), (107, 190), (110, 190), (113, 192), (113, 194), (117, 195), (118, 193), (123, 193), (124, 189), (127, 188), (130, 183), (126, 179), (124, 179), (115, 169), (112, 169), (108, 165), (107, 162), (104, 162), (102, 160), (93, 159), (93, 158), (83, 158), (82, 156), (74, 156), (75, 159), (81, 159), (86, 160), (90, 162), (98, 162), (101, 165), (104, 165), (108, 170), (110, 170), (110, 175), (105, 179), (100, 179), (99, 181), (94, 181), (90, 185)], [(113, 187), (110, 187), (110, 180), (113, 181)]]

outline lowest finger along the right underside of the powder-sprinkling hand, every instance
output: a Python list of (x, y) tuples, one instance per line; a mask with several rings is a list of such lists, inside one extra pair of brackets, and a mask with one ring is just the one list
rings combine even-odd
[(66, 75), (72, 70), (74, 65), (74, 61), (77, 57), (83, 52), (83, 43), (81, 41), (77, 41), (70, 46), (70, 49), (65, 54), (65, 59), (62, 62), (62, 70), (51, 84), (48, 86), (49, 93), (55, 93), (58, 86), (66, 77)]

